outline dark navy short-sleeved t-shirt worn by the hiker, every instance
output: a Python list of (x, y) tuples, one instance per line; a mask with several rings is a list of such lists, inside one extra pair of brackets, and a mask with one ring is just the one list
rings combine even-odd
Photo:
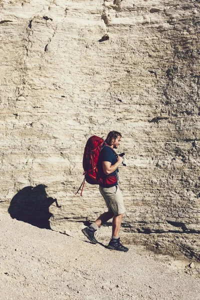
[[(111, 165), (113, 165), (117, 161), (116, 155), (114, 154), (112, 149), (108, 146), (104, 146), (101, 149), (99, 158), (98, 158), (98, 171), (99, 171), (100, 175), (103, 178), (105, 178), (107, 175), (103, 172), (102, 161), (109, 161), (109, 162), (111, 162)], [(109, 176), (117, 175), (117, 172), (118, 172), (118, 168), (115, 171), (113, 171), (112, 173), (110, 173)], [(113, 185), (110, 185), (109, 187), (114, 186), (116, 184), (117, 184), (117, 182), (115, 182)], [(102, 185), (102, 184), (100, 184), (100, 186), (106, 187), (105, 185)]]

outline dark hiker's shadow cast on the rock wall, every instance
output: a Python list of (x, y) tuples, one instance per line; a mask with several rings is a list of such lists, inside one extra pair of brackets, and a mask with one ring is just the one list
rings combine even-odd
[(39, 228), (50, 228), (49, 218), (53, 215), (49, 206), (57, 200), (47, 197), (44, 184), (20, 189), (11, 199), (8, 212), (12, 218), (29, 223)]

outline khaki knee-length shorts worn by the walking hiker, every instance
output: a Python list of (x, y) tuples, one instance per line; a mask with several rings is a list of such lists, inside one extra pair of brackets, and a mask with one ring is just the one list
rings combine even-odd
[(105, 200), (108, 211), (112, 211), (114, 215), (119, 215), (125, 212), (123, 197), (118, 185), (114, 185), (112, 187), (99, 186), (99, 190)]

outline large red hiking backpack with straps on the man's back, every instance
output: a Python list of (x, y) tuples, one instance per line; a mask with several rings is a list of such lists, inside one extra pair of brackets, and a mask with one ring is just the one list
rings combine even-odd
[[(114, 176), (108, 175), (106, 176), (106, 178), (101, 178), (98, 173), (98, 169), (97, 169), (98, 157), (100, 154), (100, 150), (104, 145), (107, 144), (104, 142), (102, 137), (92, 135), (88, 138), (84, 148), (84, 154), (82, 159), (84, 179), (75, 194), (77, 194), (80, 188), (82, 187), (80, 192), (80, 195), (82, 195), (82, 190), (83, 190), (85, 180), (90, 184), (100, 184), (100, 183), (112, 184), (113, 182), (117, 181), (115, 175)], [(113, 152), (115, 153), (114, 150)]]

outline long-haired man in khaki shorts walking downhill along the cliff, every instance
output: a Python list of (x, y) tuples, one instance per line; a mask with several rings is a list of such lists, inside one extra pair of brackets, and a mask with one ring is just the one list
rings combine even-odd
[(110, 131), (105, 139), (105, 145), (100, 151), (98, 158), (98, 171), (103, 178), (103, 183), (99, 185), (99, 190), (103, 196), (108, 211), (102, 213), (90, 226), (82, 229), (84, 235), (92, 242), (98, 241), (94, 237), (95, 231), (101, 224), (112, 218), (112, 237), (108, 243), (108, 248), (127, 252), (128, 248), (120, 243), (119, 230), (125, 208), (121, 191), (117, 184), (118, 166), (122, 163), (121, 156), (116, 156), (113, 149), (117, 149), (121, 141), (121, 134), (117, 131)]

